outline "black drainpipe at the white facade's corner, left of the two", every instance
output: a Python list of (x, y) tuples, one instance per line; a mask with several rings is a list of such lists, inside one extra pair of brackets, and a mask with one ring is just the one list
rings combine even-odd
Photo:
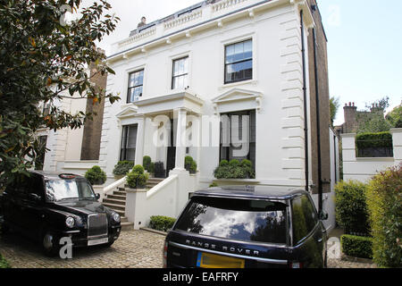
[(305, 177), (306, 191), (308, 191), (308, 121), (307, 121), (307, 87), (306, 87), (306, 45), (305, 45), (305, 23), (303, 22), (303, 10), (300, 11), (300, 26), (301, 26), (301, 46), (303, 60), (303, 100), (305, 108)]

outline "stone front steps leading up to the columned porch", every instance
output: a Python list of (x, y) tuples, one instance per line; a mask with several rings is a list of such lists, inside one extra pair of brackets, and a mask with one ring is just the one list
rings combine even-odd
[[(147, 188), (152, 189), (158, 183), (163, 181), (164, 179), (159, 178), (149, 178), (147, 181)], [(103, 200), (103, 204), (106, 207), (113, 209), (117, 214), (121, 216), (121, 231), (133, 231), (134, 223), (130, 223), (128, 218), (125, 217), (126, 211), (126, 190), (125, 188), (117, 188), (113, 191), (113, 194), (106, 195)]]

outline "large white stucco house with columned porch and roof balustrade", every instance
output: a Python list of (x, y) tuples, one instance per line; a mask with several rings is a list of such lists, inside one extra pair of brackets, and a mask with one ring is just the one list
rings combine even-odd
[[(314, 0), (204, 1), (132, 30), (107, 60), (115, 71), (107, 93), (122, 100), (105, 103), (104, 194), (125, 183), (113, 179), (120, 160), (150, 156), (165, 169), (155, 187), (128, 192), (123, 212), (135, 228), (153, 214), (179, 214), (191, 192), (212, 182), (303, 188), (317, 202), (320, 172), (326, 224), (334, 226), (338, 137)], [(196, 174), (185, 156), (197, 162)], [(217, 180), (222, 159), (250, 160), (255, 179)]]

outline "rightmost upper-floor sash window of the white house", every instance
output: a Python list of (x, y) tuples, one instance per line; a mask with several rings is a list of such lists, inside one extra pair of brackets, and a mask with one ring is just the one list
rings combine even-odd
[(252, 40), (225, 46), (225, 83), (253, 78)]

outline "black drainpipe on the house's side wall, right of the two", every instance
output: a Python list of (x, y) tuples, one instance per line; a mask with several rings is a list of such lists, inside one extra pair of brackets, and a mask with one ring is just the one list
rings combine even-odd
[(322, 162), (321, 162), (321, 127), (320, 127), (320, 95), (318, 88), (318, 68), (317, 68), (317, 38), (316, 30), (313, 29), (314, 41), (314, 81), (315, 81), (315, 116), (317, 123), (317, 171), (318, 171), (318, 212), (322, 214)]

